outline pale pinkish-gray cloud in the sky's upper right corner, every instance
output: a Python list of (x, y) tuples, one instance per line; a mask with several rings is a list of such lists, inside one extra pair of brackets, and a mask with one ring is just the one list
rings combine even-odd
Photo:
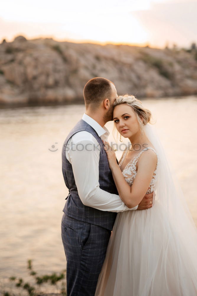
[(171, 45), (189, 46), (197, 41), (197, 2), (154, 3), (149, 10), (131, 12), (149, 32), (149, 43), (163, 47)]

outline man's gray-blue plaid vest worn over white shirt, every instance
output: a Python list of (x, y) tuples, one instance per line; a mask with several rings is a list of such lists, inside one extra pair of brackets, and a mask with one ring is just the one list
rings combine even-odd
[[(62, 147), (62, 173), (64, 176), (64, 182), (69, 189), (69, 195), (66, 197), (67, 201), (64, 206), (63, 212), (76, 220), (87, 222), (101, 226), (103, 228), (112, 230), (113, 224), (117, 213), (97, 210), (93, 207), (85, 206), (79, 198), (75, 179), (73, 175), (72, 165), (66, 158), (66, 149), (68, 141), (75, 133), (79, 131), (87, 131), (91, 133), (100, 145), (100, 160), (99, 160), (99, 184), (100, 188), (113, 193), (118, 194), (116, 189), (111, 170), (109, 168), (108, 159), (105, 150), (103, 149), (102, 139), (98, 136), (96, 131), (83, 119), (74, 126), (70, 131)], [(81, 147), (80, 147), (81, 148)], [(88, 153), (88, 152), (87, 152)], [(87, 185), (88, 186), (88, 185)]]

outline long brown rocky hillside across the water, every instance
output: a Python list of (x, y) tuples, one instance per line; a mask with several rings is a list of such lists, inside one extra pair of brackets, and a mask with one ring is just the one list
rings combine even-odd
[(197, 52), (23, 36), (0, 44), (1, 104), (83, 101), (97, 76), (138, 98), (197, 94)]

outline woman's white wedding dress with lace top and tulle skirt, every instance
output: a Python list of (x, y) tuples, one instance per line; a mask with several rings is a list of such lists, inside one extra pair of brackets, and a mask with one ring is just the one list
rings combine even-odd
[[(148, 149), (157, 154), (152, 147)], [(136, 163), (145, 150), (123, 169), (123, 176), (130, 185), (136, 177)], [(157, 167), (147, 193), (155, 190), (156, 181)], [(197, 295), (196, 258), (192, 260), (191, 250), (182, 244), (176, 223), (170, 220), (168, 213), (170, 210), (155, 198), (154, 191), (152, 208), (117, 214), (95, 296)], [(194, 250), (193, 255), (196, 255)]]

